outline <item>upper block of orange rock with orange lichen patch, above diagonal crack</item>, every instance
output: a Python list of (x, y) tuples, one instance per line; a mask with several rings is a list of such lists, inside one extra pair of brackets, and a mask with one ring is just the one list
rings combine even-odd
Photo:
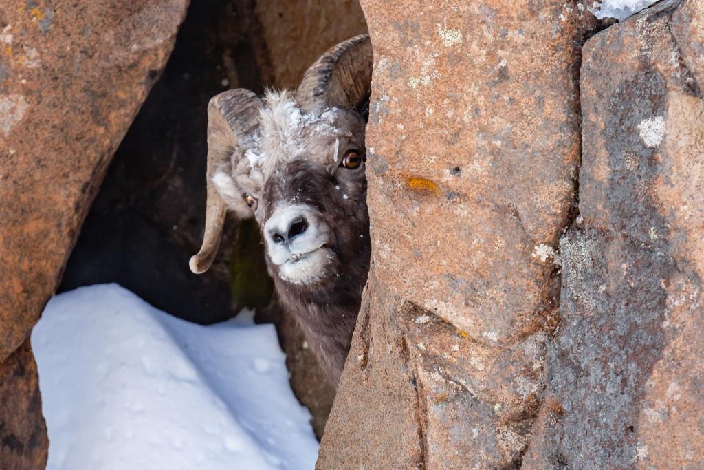
[(572, 204), (584, 8), (363, 6), (379, 280), (477, 340), (517, 340), (551, 309), (553, 265), (533, 254)]

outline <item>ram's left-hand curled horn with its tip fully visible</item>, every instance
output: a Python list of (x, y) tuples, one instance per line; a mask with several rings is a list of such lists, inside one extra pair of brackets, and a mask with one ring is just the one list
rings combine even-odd
[(213, 175), (220, 166), (230, 163), (239, 142), (257, 128), (259, 107), (256, 94), (243, 88), (222, 92), (208, 103), (206, 229), (201, 251), (189, 261), (191, 271), (196, 274), (207, 271), (213, 264), (225, 224), (227, 206), (213, 186)]

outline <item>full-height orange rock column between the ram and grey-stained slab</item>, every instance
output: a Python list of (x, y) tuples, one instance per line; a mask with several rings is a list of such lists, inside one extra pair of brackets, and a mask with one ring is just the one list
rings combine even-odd
[(372, 273), (318, 466), (508, 468), (541, 402), (594, 20), (577, 1), (362, 5)]

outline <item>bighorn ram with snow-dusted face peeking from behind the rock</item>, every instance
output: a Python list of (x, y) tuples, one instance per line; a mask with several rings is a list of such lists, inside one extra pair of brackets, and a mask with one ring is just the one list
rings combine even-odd
[(318, 58), (295, 93), (247, 89), (208, 104), (208, 201), (202, 273), (229, 209), (255, 217), (279, 300), (337, 385), (370, 258), (365, 119), (372, 78), (367, 35)]

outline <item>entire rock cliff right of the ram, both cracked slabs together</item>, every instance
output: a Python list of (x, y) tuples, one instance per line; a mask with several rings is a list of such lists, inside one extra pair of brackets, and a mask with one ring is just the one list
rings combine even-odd
[(362, 4), (372, 272), (318, 468), (699, 468), (701, 2)]

